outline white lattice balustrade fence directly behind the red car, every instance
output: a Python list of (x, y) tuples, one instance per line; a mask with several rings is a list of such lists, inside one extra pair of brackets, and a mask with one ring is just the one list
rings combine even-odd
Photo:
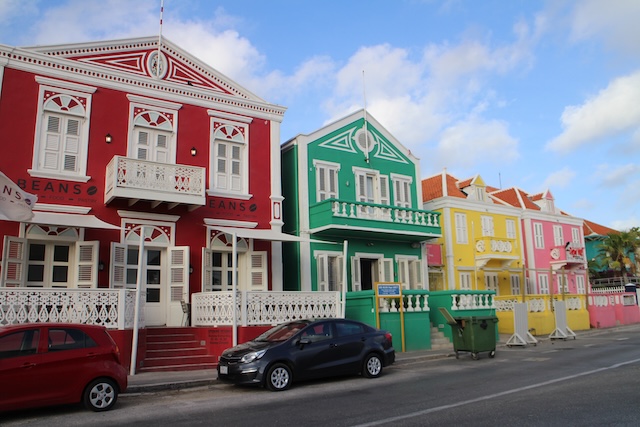
[[(144, 312), (144, 293), (141, 293)], [(0, 289), (0, 325), (84, 323), (132, 329), (135, 291), (130, 289)], [(144, 327), (144, 319), (140, 319)]]

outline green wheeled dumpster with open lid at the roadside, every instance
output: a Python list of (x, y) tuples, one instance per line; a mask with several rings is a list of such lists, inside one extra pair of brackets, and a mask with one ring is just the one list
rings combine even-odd
[(453, 349), (456, 352), (456, 359), (460, 351), (470, 352), (474, 360), (477, 360), (478, 353), (483, 351), (488, 351), (489, 357), (496, 355), (497, 317), (472, 316), (453, 318), (447, 312), (445, 318), (447, 319), (447, 323), (451, 325)]

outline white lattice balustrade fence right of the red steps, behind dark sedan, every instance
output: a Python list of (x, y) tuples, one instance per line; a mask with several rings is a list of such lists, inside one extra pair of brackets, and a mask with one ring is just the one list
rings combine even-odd
[[(193, 326), (233, 325), (232, 292), (191, 296)], [(298, 319), (340, 317), (339, 292), (237, 292), (236, 322), (241, 326), (277, 325)]]

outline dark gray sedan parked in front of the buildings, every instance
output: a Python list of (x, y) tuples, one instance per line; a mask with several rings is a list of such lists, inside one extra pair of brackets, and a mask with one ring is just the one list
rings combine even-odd
[(218, 379), (286, 390), (293, 381), (380, 376), (395, 361), (391, 334), (347, 319), (296, 320), (222, 352)]

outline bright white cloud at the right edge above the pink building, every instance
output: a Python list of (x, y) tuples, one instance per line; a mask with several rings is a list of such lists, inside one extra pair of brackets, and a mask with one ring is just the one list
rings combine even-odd
[(546, 148), (570, 152), (623, 131), (633, 131), (640, 123), (640, 71), (613, 80), (596, 96), (562, 113), (564, 131)]

